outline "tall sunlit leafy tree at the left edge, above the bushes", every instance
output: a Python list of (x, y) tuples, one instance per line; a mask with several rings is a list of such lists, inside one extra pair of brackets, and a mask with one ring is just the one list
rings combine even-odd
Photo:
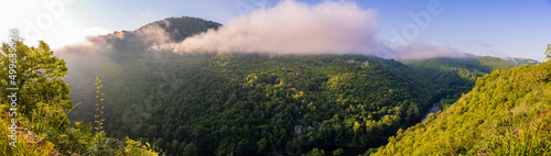
[[(42, 113), (39, 119), (55, 119), (48, 121), (55, 125), (57, 130), (63, 130), (68, 125), (68, 120), (63, 109), (73, 109), (73, 102), (69, 98), (69, 86), (63, 81), (63, 77), (67, 75), (65, 62), (53, 55), (50, 46), (40, 42), (36, 47), (29, 47), (22, 41), (12, 41), (15, 51), (10, 52), (10, 45), (2, 43), (2, 52), (0, 54), (0, 88), (19, 88), (18, 92), (18, 115), (25, 119), (33, 118), (33, 111), (43, 111), (47, 109), (47, 113)], [(9, 67), (13, 59), (14, 64), (13, 83), (11, 83)], [(13, 71), (12, 71), (13, 74)], [(10, 82), (10, 83), (8, 83)], [(1, 89), (0, 94), (6, 98), (8, 90)]]

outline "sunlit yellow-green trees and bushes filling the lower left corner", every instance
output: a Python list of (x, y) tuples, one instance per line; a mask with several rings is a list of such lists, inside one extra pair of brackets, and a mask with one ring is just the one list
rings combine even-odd
[[(15, 119), (18, 140), (17, 147), (9, 146), (6, 136), (12, 132), (1, 129), (0, 134), (4, 137), (1, 137), (0, 155), (128, 155), (125, 148), (132, 149), (132, 154), (156, 155), (147, 143), (147, 146), (137, 142), (127, 142), (125, 145), (118, 140), (106, 137), (105, 132), (91, 133), (91, 125), (75, 122), (74, 126), (69, 126), (71, 121), (65, 111), (73, 109), (73, 103), (68, 97), (69, 86), (62, 79), (67, 75), (65, 62), (53, 56), (44, 42), (40, 42), (37, 47), (29, 47), (21, 41), (15, 43), (18, 114), (8, 115), (9, 99), (6, 98), (9, 92), (6, 88), (9, 87), (7, 83), (10, 78), (7, 68), (2, 67), (0, 126), (11, 126), (10, 119)], [(8, 52), (8, 44), (2, 44), (1, 65), (10, 62)], [(99, 91), (101, 86), (97, 87)]]

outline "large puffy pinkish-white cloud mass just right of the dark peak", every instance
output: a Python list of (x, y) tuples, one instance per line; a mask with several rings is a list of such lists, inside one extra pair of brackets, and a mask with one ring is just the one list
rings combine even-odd
[(153, 46), (175, 53), (375, 54), (376, 12), (354, 2), (293, 0), (230, 19), (218, 30)]

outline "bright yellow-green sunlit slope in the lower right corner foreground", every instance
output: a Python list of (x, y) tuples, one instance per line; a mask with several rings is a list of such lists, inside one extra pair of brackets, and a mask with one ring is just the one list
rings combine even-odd
[(551, 63), (495, 70), (375, 155), (550, 155)]

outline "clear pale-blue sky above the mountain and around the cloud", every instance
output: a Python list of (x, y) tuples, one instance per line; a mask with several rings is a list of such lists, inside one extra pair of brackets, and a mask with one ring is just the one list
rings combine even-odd
[[(296, 0), (315, 5), (323, 0)], [(428, 44), (474, 55), (544, 60), (551, 44), (551, 0), (348, 1), (376, 16), (375, 38), (389, 46)], [(222, 24), (280, 1), (269, 0), (19, 0), (0, 2), (0, 40), (18, 27), (28, 44), (54, 49), (114, 31), (133, 31), (170, 16)]]

